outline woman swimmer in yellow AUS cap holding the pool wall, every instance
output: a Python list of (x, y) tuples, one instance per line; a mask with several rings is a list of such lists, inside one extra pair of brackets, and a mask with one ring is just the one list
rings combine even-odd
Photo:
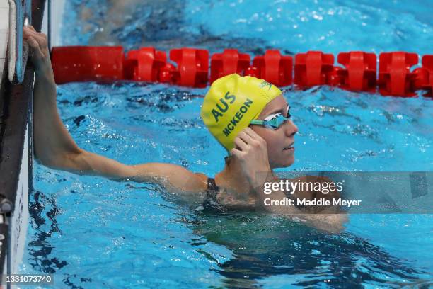
[[(229, 157), (214, 178), (183, 166), (165, 163), (122, 164), (81, 149), (64, 127), (57, 111), (57, 91), (47, 47), (47, 38), (31, 26), (24, 28), (35, 67), (34, 150), (35, 158), (53, 169), (110, 179), (156, 183), (176, 193), (191, 205), (218, 204), (256, 208), (265, 181), (277, 181), (272, 169), (294, 163), (294, 136), (298, 128), (290, 119), (290, 107), (274, 85), (255, 77), (231, 74), (214, 81), (201, 113), (209, 132)], [(260, 174), (256, 178), (256, 173)], [(284, 192), (272, 193), (282, 199)], [(308, 225), (340, 231), (345, 215), (299, 215), (295, 207), (265, 207), (282, 215), (300, 217)]]

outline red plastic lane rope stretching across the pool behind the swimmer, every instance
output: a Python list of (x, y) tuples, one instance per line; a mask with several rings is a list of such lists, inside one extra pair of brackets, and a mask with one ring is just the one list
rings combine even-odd
[[(215, 53), (195, 48), (180, 48), (166, 52), (154, 47), (131, 50), (124, 57), (122, 47), (71, 46), (52, 49), (52, 66), (58, 84), (72, 81), (158, 81), (180, 86), (206, 87), (219, 77), (231, 73), (260, 77), (277, 86), (291, 85), (304, 89), (330, 85), (351, 91), (375, 92), (379, 86), (384, 96), (433, 96), (433, 55), (422, 57), (408, 52), (384, 52), (377, 56), (362, 51), (341, 52), (334, 56), (320, 51), (299, 53), (293, 57), (281, 55), (279, 50), (267, 50), (251, 63), (250, 55), (226, 49)], [(174, 63), (173, 63), (174, 62)], [(177, 64), (177, 65), (175, 65)]]

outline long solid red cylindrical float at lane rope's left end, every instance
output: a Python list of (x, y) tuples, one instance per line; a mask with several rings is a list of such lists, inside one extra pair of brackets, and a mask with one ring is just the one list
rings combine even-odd
[(51, 59), (57, 84), (124, 79), (121, 46), (53, 47)]

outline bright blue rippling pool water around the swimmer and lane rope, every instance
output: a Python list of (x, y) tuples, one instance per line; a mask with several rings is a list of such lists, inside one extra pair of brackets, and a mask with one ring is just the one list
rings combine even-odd
[[(116, 1), (67, 1), (64, 45), (432, 53), (432, 4), (134, 2), (112, 8)], [(110, 13), (116, 21), (108, 23)], [(200, 119), (205, 91), (64, 84), (57, 103), (83, 149), (126, 164), (170, 162), (214, 176), (225, 152)], [(329, 87), (289, 87), (284, 96), (299, 126), (289, 170), (432, 170), (429, 99)], [(40, 164), (34, 181), (23, 272), (52, 273), (55, 288), (427, 288), (433, 282), (433, 215), (350, 215), (342, 234), (326, 234), (254, 212), (200, 212), (147, 183)]]

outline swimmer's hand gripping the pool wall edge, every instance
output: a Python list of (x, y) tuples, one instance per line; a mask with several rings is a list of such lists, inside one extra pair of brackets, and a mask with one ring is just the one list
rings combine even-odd
[(23, 38), (30, 46), (30, 57), (35, 67), (36, 74), (52, 77), (50, 51), (47, 45), (47, 35), (36, 32), (33, 26), (23, 28)]

